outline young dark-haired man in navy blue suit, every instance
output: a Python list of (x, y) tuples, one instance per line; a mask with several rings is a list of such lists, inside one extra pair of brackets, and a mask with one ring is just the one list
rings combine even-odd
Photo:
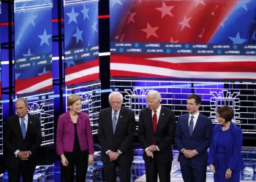
[(175, 142), (184, 182), (206, 181), (207, 149), (211, 143), (211, 119), (199, 113), (201, 98), (187, 98), (187, 111), (178, 117)]

